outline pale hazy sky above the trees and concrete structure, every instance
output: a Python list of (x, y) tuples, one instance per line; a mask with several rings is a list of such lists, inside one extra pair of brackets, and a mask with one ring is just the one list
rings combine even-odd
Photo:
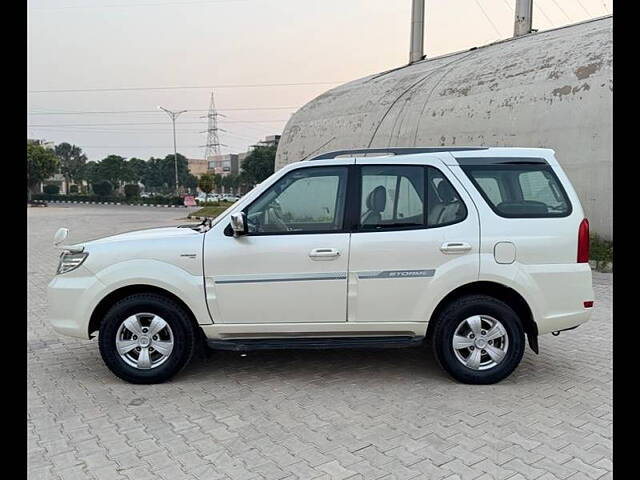
[[(426, 0), (427, 56), (510, 37), (514, 5)], [(612, 7), (535, 0), (534, 28)], [(90, 160), (165, 156), (162, 105), (190, 110), (177, 122), (178, 151), (203, 158), (211, 88), (157, 87), (215, 86), (222, 151), (246, 151), (331, 87), (406, 64), (410, 10), (411, 0), (30, 0), (27, 136), (75, 143)], [(126, 88), (136, 90), (77, 91)]]

